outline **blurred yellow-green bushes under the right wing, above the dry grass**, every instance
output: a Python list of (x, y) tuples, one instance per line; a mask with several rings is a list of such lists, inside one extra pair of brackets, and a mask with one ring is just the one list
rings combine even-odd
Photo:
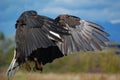
[(120, 56), (114, 50), (71, 54), (45, 65), (44, 72), (120, 73)]

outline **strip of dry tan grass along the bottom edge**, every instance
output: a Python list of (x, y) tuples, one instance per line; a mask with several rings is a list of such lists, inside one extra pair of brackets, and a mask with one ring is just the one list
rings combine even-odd
[[(3, 73), (0, 80), (7, 80)], [(120, 74), (103, 73), (28, 73), (17, 72), (13, 80), (120, 80)]]

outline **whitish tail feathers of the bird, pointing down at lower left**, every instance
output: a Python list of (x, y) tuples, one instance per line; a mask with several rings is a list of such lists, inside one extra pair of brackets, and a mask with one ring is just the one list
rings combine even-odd
[(15, 74), (15, 72), (18, 70), (18, 68), (19, 68), (19, 64), (16, 62), (16, 58), (15, 57), (16, 57), (16, 50), (14, 50), (13, 60), (12, 60), (12, 62), (10, 64), (8, 70), (7, 70), (7, 73), (6, 73), (8, 79), (10, 79)]

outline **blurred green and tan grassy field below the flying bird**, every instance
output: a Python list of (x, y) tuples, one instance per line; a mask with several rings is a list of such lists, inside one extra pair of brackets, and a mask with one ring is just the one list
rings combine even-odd
[[(0, 66), (0, 80), (7, 80), (7, 68)], [(113, 51), (71, 54), (46, 64), (43, 73), (20, 68), (12, 80), (120, 80), (120, 56)]]

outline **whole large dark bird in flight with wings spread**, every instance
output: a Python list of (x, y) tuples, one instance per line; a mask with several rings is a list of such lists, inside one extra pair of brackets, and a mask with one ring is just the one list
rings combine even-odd
[[(55, 19), (25, 11), (16, 21), (16, 48), (7, 76), (11, 77), (22, 64), (27, 70), (40, 70), (46, 63), (78, 51), (101, 50), (108, 34), (103, 27), (72, 15)], [(29, 62), (34, 62), (34, 67)]]

